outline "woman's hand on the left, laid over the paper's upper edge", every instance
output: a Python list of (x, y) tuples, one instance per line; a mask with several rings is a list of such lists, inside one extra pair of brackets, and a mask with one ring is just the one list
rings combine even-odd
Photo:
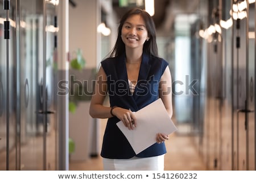
[(136, 117), (131, 110), (123, 109), (122, 107), (114, 107), (112, 113), (123, 122), (123, 125), (129, 130), (133, 130), (136, 125)]

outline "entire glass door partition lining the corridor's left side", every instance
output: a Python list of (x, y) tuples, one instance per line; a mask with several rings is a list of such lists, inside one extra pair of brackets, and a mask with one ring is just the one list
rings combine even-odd
[(0, 170), (56, 170), (59, 1), (5, 3), (0, 0), (1, 9), (9, 8), (0, 11)]

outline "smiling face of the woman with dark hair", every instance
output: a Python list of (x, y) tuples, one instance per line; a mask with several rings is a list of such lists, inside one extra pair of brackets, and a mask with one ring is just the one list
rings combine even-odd
[(146, 24), (141, 15), (131, 15), (122, 26), (122, 40), (126, 48), (143, 49), (148, 39)]

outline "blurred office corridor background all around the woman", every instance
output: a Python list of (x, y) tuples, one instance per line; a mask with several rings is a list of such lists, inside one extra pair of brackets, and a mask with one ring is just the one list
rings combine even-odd
[(93, 81), (150, 2), (178, 129), (165, 170), (255, 170), (255, 0), (0, 0), (1, 171), (103, 170)]

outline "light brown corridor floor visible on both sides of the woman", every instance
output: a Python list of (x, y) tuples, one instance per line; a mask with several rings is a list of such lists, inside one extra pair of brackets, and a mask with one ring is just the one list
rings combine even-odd
[[(204, 171), (207, 169), (189, 135), (171, 134), (170, 139), (166, 142), (166, 147), (164, 170)], [(100, 156), (85, 161), (69, 162), (69, 170), (71, 171), (101, 171), (102, 169), (102, 158)]]

